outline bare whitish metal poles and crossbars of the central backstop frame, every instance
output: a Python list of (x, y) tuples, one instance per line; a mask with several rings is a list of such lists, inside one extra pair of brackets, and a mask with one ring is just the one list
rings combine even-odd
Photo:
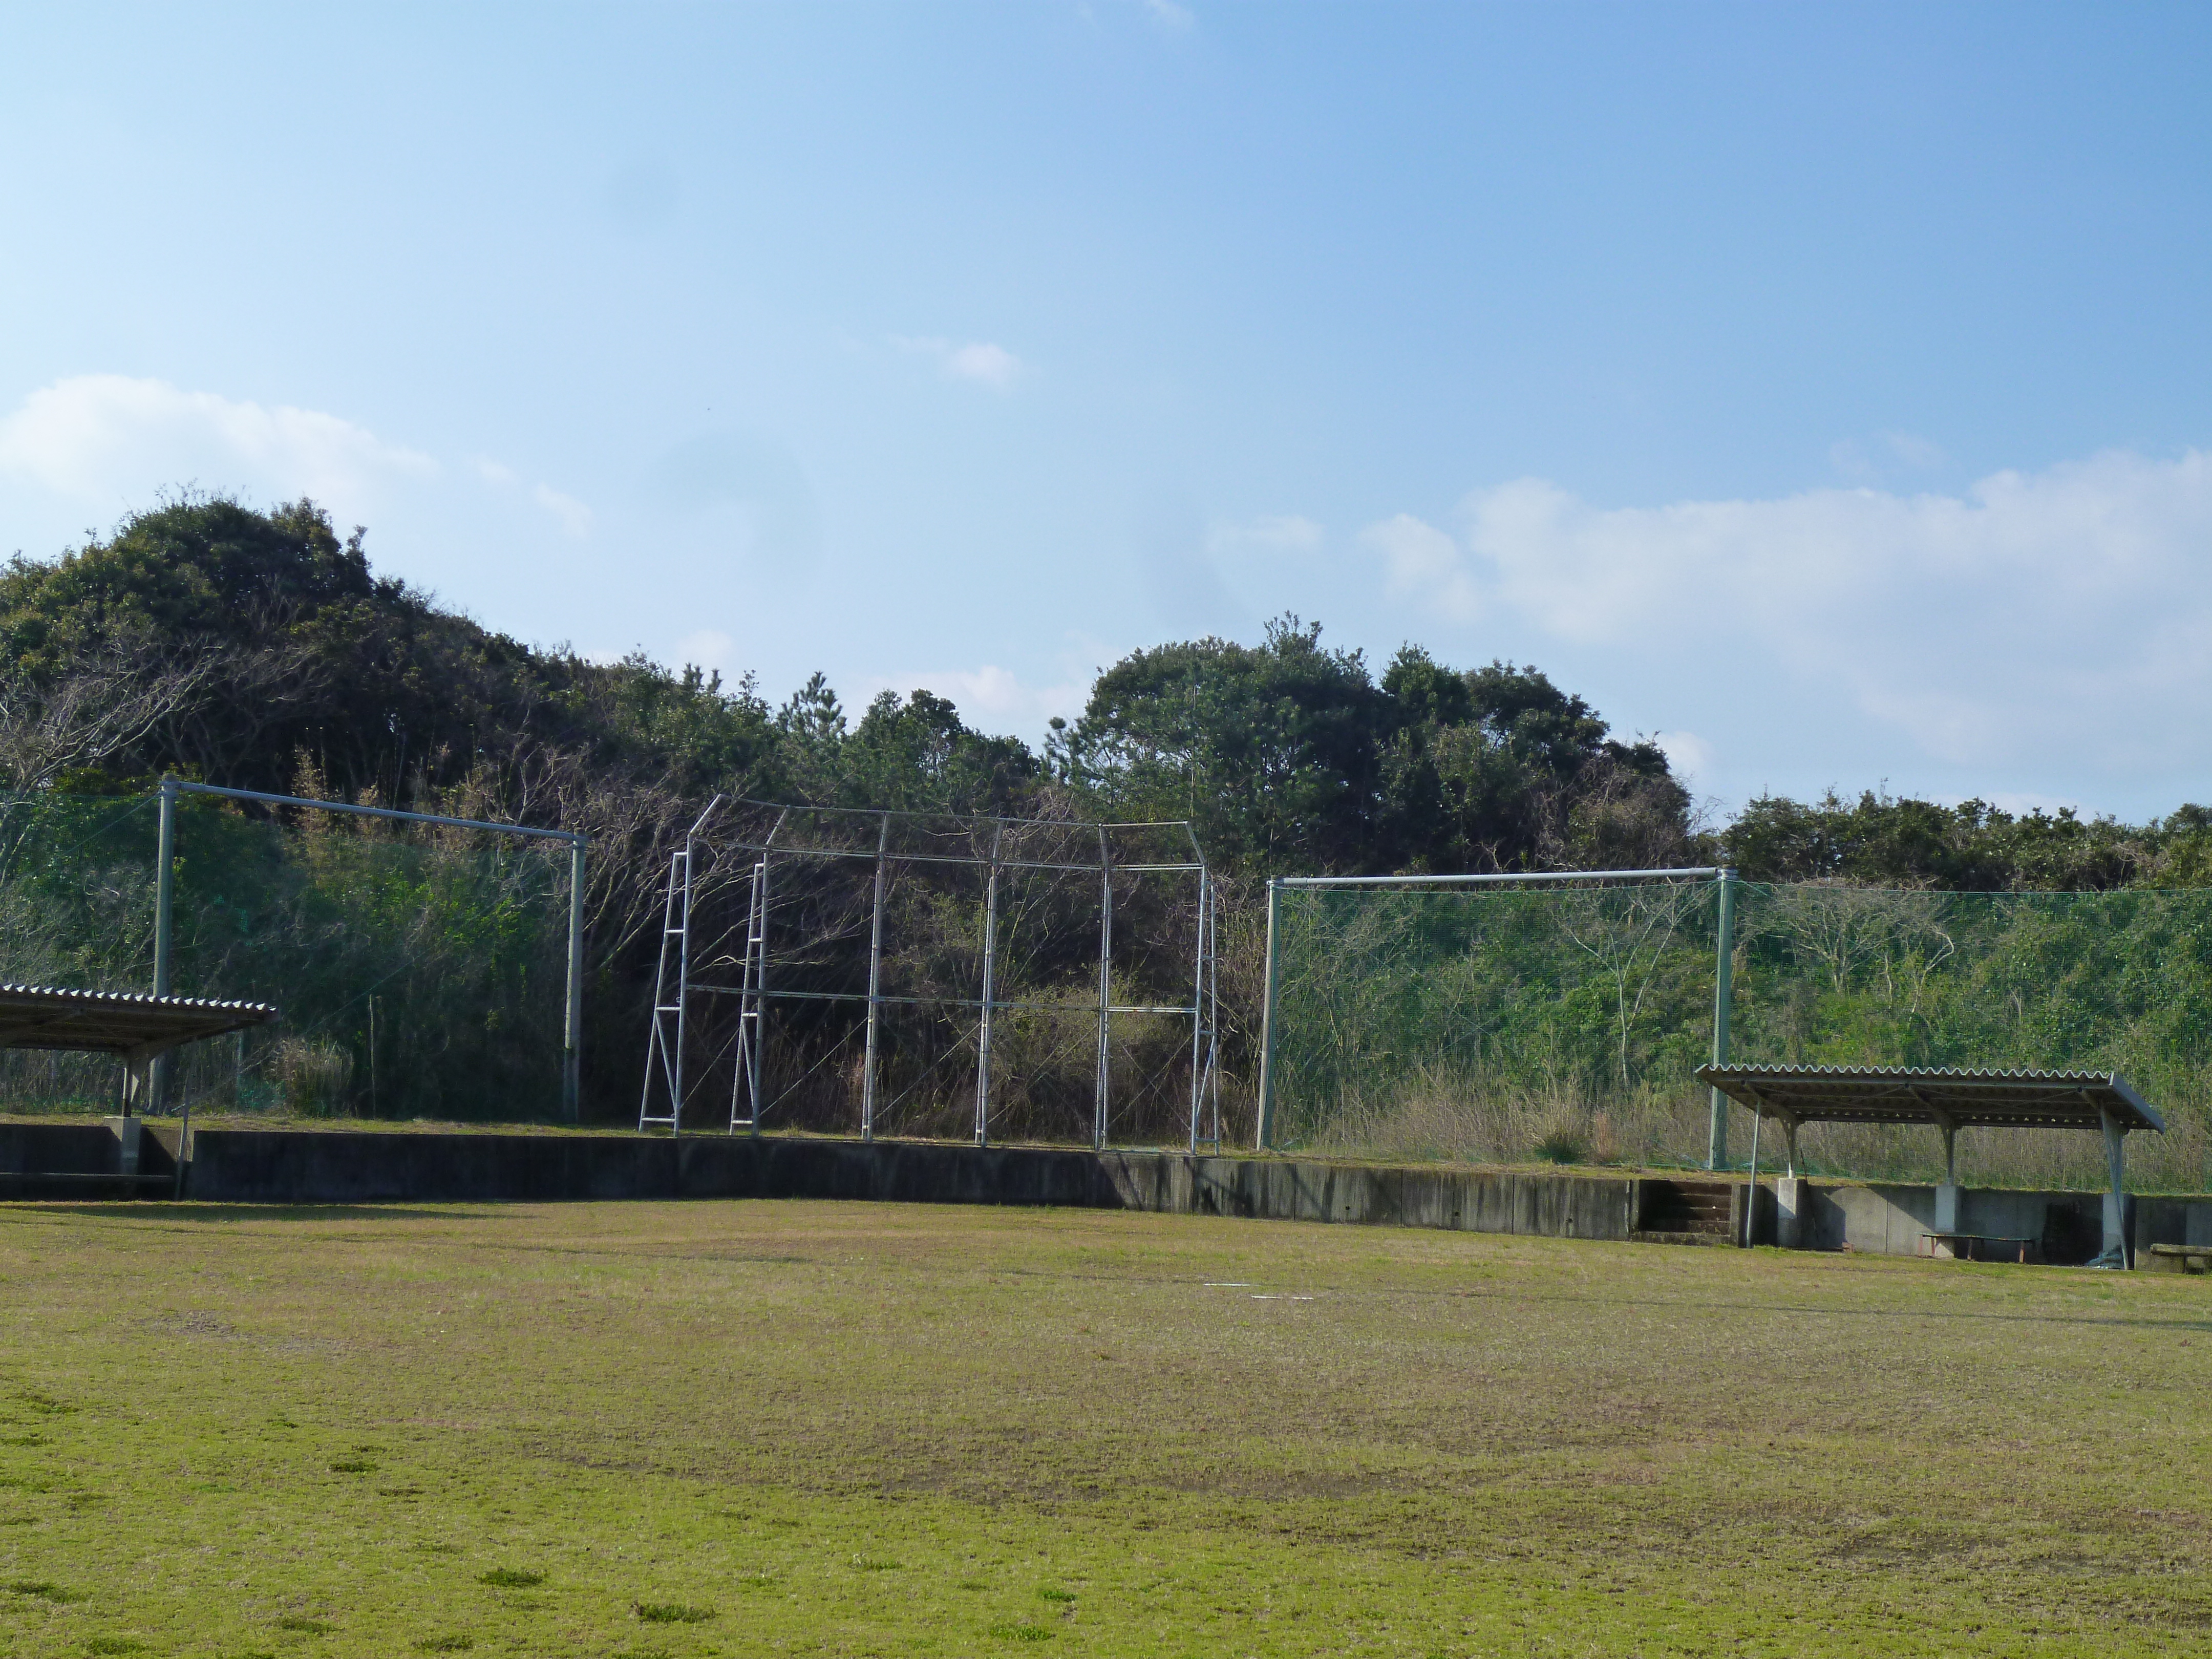
[[(1164, 856), (1188, 845), (1186, 856)], [(807, 865), (867, 865), (865, 889), (849, 887), (838, 916), (812, 916), (787, 887), (805, 883)], [(980, 876), (980, 938), (969, 964), (975, 995), (945, 991), (885, 989), (885, 916), (898, 880), (914, 869), (975, 872)], [(1015, 876), (1097, 878), (1097, 980), (1095, 991), (1073, 995), (1062, 980), (1042, 995), (1009, 995), (1004, 982), (1002, 887)], [(1115, 885), (1119, 878), (1197, 878), (1192, 953), (1188, 958), (1188, 1002), (1117, 1002), (1115, 989)], [(865, 902), (860, 894), (865, 891)], [(737, 949), (701, 949), (701, 905), (714, 898), (741, 927), (730, 925)], [(975, 896), (964, 896), (971, 902)], [(1126, 900), (1124, 900), (1126, 902)], [(818, 945), (818, 958), (838, 958), (847, 982), (785, 984), (770, 969), (779, 911), (801, 909), (785, 933), (796, 947)], [(865, 922), (863, 922), (865, 911)], [(1066, 940), (1073, 922), (1060, 927)], [(810, 933), (812, 929), (812, 933)], [(730, 1035), (717, 1042), (714, 1064), (730, 1064), (728, 1133), (759, 1135), (783, 1095), (770, 1097), (765, 1055), (772, 1042), (770, 1013), (776, 1004), (863, 1006), (856, 1128), (876, 1139), (883, 1121), (878, 1040), (889, 1009), (940, 1009), (973, 1015), (975, 1113), (973, 1141), (991, 1141), (993, 1040), (998, 1015), (1033, 1013), (1097, 1022), (1097, 1062), (1091, 1106), (1091, 1146), (1104, 1148), (1113, 1126), (1113, 1031), (1115, 1018), (1166, 1015), (1190, 1020), (1190, 1099), (1186, 1141), (1221, 1141), (1221, 1053), (1219, 1053), (1219, 891), (1190, 823), (1075, 823), (1057, 818), (993, 818), (973, 814), (925, 814), (885, 807), (805, 807), (717, 794), (692, 823), (684, 847), (668, 860), (661, 918), (661, 949), (653, 991), (653, 1026), (646, 1040), (646, 1075), (639, 1095), (639, 1128), (684, 1130), (697, 1071), (688, 1068), (699, 1015), (712, 1002), (734, 1002)], [(865, 975), (858, 938), (865, 933)], [(1086, 947), (1088, 949), (1088, 947)], [(865, 989), (863, 989), (865, 978)], [(852, 1033), (847, 1033), (852, 1035)], [(821, 1064), (821, 1062), (816, 1062)], [(803, 1079), (801, 1079), (803, 1082)], [(790, 1091), (785, 1091), (787, 1095)]]

